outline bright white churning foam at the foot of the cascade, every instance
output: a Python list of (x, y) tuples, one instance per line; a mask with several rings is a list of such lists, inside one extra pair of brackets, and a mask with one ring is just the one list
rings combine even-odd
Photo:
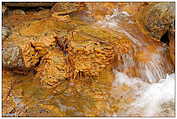
[[(116, 79), (113, 85), (126, 84), (136, 88), (135, 101), (129, 105), (124, 116), (161, 116), (161, 105), (168, 102), (174, 102), (175, 99), (175, 74), (167, 75), (165, 79), (157, 83), (148, 84), (139, 78), (130, 78), (121, 72), (115, 72)], [(174, 105), (173, 105), (174, 106)], [(172, 108), (172, 107), (171, 107)], [(174, 111), (174, 110), (172, 110)], [(118, 114), (119, 116), (120, 114)], [(171, 115), (173, 116), (173, 115)]]

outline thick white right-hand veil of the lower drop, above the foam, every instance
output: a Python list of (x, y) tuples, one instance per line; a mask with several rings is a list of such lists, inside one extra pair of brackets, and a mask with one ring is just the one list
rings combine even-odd
[(137, 59), (137, 70), (140, 77), (149, 83), (155, 83), (160, 79), (164, 79), (166, 74), (173, 72), (173, 66), (169, 62), (166, 48), (156, 46), (153, 48), (146, 48), (143, 50), (144, 56), (140, 58), (148, 58), (148, 61), (139, 61)]

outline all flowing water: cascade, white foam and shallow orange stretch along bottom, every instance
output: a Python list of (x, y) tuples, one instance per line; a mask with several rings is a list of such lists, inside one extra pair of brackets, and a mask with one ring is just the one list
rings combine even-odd
[(5, 83), (15, 79), (9, 95), (16, 107), (7, 109), (18, 116), (175, 116), (175, 73), (166, 46), (145, 35), (126, 11), (113, 9), (95, 25), (121, 32), (133, 44), (113, 74), (93, 83), (66, 81), (54, 92), (32, 74), (3, 72)]

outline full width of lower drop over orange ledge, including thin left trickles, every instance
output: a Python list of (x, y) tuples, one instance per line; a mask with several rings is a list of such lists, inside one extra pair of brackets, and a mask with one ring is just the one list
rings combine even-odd
[[(137, 49), (136, 49), (137, 50)], [(173, 66), (164, 56), (163, 52), (152, 53), (149, 50), (143, 50), (146, 53), (144, 56), (141, 55), (140, 58), (136, 58), (137, 51), (129, 51), (126, 54), (121, 54), (119, 56), (120, 63), (116, 68), (117, 71), (124, 72), (129, 76), (140, 77), (141, 80), (148, 83), (155, 83), (160, 79), (165, 78), (167, 73), (172, 73)], [(133, 73), (133, 74), (131, 74)]]

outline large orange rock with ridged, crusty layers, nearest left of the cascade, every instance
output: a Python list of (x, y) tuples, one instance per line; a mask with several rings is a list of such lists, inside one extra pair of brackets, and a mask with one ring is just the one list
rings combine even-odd
[(111, 43), (82, 32), (82, 29), (71, 33), (68, 39), (67, 53), (72, 79), (77, 76), (98, 76), (104, 69), (112, 66), (115, 54)]

